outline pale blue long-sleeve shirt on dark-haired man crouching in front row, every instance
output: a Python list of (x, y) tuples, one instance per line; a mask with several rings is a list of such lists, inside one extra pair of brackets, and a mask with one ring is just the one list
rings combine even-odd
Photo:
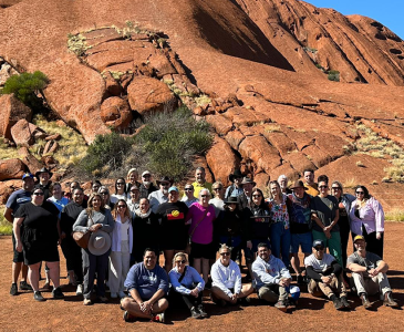
[(252, 274), (256, 279), (257, 290), (265, 284), (279, 284), (282, 278), (291, 279), (284, 263), (273, 255), (269, 257), (268, 261), (258, 256), (252, 263)]

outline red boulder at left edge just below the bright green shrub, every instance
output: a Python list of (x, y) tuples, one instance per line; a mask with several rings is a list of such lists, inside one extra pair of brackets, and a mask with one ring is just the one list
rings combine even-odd
[(11, 127), (22, 118), (31, 121), (31, 108), (11, 94), (2, 95), (0, 97), (0, 136), (11, 139)]

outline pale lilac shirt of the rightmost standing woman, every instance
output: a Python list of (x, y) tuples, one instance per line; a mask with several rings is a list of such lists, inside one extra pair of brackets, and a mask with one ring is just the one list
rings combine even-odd
[(371, 197), (364, 207), (359, 210), (358, 218), (355, 216), (358, 200), (354, 200), (351, 206), (351, 231), (356, 235), (362, 235), (362, 225), (365, 227), (366, 232), (384, 231), (384, 211), (379, 200)]

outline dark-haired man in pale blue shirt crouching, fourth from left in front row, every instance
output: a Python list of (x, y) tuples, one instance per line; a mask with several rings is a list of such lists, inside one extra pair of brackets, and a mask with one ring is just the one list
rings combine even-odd
[(288, 310), (288, 288), (292, 280), (283, 262), (271, 255), (267, 243), (258, 245), (258, 257), (252, 263), (252, 274), (256, 279), (258, 297), (276, 303), (280, 311)]

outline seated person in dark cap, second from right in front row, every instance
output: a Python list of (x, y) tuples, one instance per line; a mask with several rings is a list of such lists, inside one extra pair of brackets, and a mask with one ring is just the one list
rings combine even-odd
[[(324, 294), (333, 303), (336, 310), (351, 308), (346, 299), (346, 289), (342, 281), (342, 267), (335, 258), (324, 253), (324, 242), (322, 240), (313, 241), (313, 253), (304, 259), (307, 274), (310, 278), (309, 293), (313, 297)], [(340, 299), (336, 298), (332, 289), (340, 292)]]

